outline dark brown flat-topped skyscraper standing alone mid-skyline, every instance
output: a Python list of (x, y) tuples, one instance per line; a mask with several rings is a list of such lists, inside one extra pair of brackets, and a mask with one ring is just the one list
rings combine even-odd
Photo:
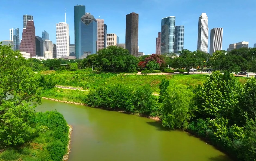
[(126, 15), (125, 45), (131, 55), (138, 56), (138, 26), (139, 14), (130, 13)]

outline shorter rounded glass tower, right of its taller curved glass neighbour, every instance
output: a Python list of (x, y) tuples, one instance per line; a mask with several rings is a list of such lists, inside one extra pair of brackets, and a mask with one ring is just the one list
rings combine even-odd
[(179, 51), (184, 47), (184, 26), (175, 27), (174, 53), (179, 55)]

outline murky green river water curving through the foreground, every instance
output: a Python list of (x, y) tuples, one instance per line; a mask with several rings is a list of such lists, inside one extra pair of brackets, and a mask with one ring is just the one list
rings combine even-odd
[(43, 100), (36, 110), (57, 110), (73, 126), (69, 161), (228, 161), (228, 157), (183, 131), (154, 120)]

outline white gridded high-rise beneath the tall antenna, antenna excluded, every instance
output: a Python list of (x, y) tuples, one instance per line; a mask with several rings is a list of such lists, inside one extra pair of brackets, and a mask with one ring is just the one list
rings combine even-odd
[(69, 56), (69, 25), (66, 22), (56, 24), (56, 58)]

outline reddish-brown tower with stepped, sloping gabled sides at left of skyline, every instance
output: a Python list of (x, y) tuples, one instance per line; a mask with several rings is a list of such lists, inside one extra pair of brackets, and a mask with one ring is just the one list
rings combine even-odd
[(36, 56), (36, 35), (33, 20), (28, 20), (27, 28), (23, 29), (20, 51), (29, 53), (31, 58)]

